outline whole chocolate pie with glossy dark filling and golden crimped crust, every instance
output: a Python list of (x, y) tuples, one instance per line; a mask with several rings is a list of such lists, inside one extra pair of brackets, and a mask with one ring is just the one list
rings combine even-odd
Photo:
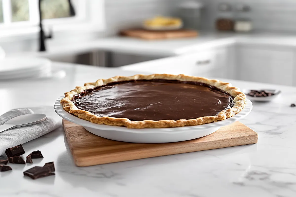
[(128, 128), (167, 128), (221, 121), (246, 104), (239, 88), (203, 77), (115, 76), (77, 86), (61, 100), (78, 118)]

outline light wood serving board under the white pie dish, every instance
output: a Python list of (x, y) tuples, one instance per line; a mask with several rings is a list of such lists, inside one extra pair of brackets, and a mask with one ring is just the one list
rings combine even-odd
[(202, 138), (159, 144), (128, 143), (102, 138), (66, 120), (63, 120), (63, 126), (74, 162), (79, 167), (258, 142), (258, 133), (240, 122), (221, 127)]

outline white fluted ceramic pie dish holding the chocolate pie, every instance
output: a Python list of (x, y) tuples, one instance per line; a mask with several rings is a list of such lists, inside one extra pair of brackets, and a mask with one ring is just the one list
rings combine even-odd
[(59, 97), (54, 103), (56, 113), (67, 121), (83, 126), (87, 131), (107, 139), (134, 143), (166, 143), (185, 141), (207, 136), (217, 131), (221, 126), (226, 126), (247, 116), (252, 110), (252, 102), (248, 99), (245, 108), (238, 114), (223, 121), (197, 126), (184, 126), (173, 128), (126, 128), (91, 123), (65, 111), (60, 103), (64, 96)]

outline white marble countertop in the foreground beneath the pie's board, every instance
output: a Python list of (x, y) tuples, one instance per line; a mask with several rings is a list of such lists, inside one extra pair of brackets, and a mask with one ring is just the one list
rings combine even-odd
[[(12, 108), (49, 106), (65, 91), (84, 82), (135, 74), (118, 69), (71, 66), (64, 79), (0, 82), (0, 114)], [(127, 162), (76, 167), (62, 128), (23, 144), (26, 153), (41, 150), (44, 159), (0, 173), (2, 197), (60, 196), (296, 196), (296, 88), (227, 80), (244, 88), (275, 88), (282, 94), (268, 103), (254, 102), (242, 123), (259, 133), (253, 145), (214, 149)], [(42, 98), (40, 97), (42, 96)], [(56, 175), (37, 180), (22, 172), (54, 161)]]

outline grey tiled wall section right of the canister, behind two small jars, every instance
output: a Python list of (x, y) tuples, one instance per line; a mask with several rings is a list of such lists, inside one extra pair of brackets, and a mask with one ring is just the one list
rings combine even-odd
[[(296, 32), (296, 1), (295, 0), (202, 0), (202, 27), (214, 29), (218, 17), (249, 18), (255, 31), (260, 32)], [(251, 7), (247, 13), (223, 13), (218, 11), (218, 4), (230, 3), (232, 6), (243, 3)]]

